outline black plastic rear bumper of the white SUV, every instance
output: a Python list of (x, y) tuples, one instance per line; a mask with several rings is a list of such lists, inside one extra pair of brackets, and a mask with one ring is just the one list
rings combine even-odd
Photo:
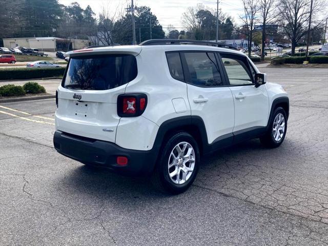
[[(87, 165), (109, 168), (126, 175), (147, 175), (153, 171), (156, 152), (124, 149), (113, 142), (96, 140), (55, 131), (53, 136), (55, 149), (67, 157)], [(117, 156), (128, 158), (127, 166), (116, 163)]]

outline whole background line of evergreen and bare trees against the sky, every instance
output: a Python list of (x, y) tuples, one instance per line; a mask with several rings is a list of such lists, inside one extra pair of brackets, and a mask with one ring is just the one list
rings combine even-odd
[[(307, 25), (312, 9), (312, 42), (322, 38), (323, 20), (328, 15), (327, 0), (241, 0), (243, 13), (241, 25), (227, 13), (218, 13), (218, 38), (244, 38), (249, 44), (264, 47), (269, 35), (275, 39), (288, 39), (295, 47), (308, 33)], [(90, 6), (85, 9), (77, 2), (68, 6), (57, 0), (2, 0), (0, 8), (0, 39), (6, 37), (56, 36), (66, 39), (90, 39), (95, 45), (132, 44), (131, 9), (103, 6), (96, 16)], [(327, 12), (327, 11), (326, 11)], [(180, 38), (215, 40), (216, 10), (203, 4), (190, 6), (181, 16), (183, 28), (169, 25), (165, 30), (156, 15), (147, 6), (134, 8), (136, 40), (140, 43), (150, 38)], [(272, 26), (277, 30), (272, 30)], [(258, 28), (260, 27), (260, 28)], [(251, 47), (249, 46), (249, 55)], [(262, 49), (262, 58), (264, 49)]]

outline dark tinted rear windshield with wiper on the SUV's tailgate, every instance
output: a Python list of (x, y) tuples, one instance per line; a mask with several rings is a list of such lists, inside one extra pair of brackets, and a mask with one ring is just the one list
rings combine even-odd
[(137, 73), (137, 61), (133, 55), (71, 57), (63, 87), (109, 90), (129, 83)]

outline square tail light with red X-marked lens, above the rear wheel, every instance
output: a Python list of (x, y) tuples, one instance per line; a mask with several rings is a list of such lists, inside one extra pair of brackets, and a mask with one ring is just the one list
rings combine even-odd
[(117, 97), (117, 114), (120, 117), (136, 117), (144, 113), (147, 107), (145, 94), (123, 94)]

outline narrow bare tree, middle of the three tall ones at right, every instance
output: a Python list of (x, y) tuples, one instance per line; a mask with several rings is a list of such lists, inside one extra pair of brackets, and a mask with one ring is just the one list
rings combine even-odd
[(274, 14), (276, 9), (275, 0), (259, 0), (259, 11), (262, 19), (262, 43), (261, 43), (261, 60), (264, 60), (265, 35), (267, 24), (276, 18)]

